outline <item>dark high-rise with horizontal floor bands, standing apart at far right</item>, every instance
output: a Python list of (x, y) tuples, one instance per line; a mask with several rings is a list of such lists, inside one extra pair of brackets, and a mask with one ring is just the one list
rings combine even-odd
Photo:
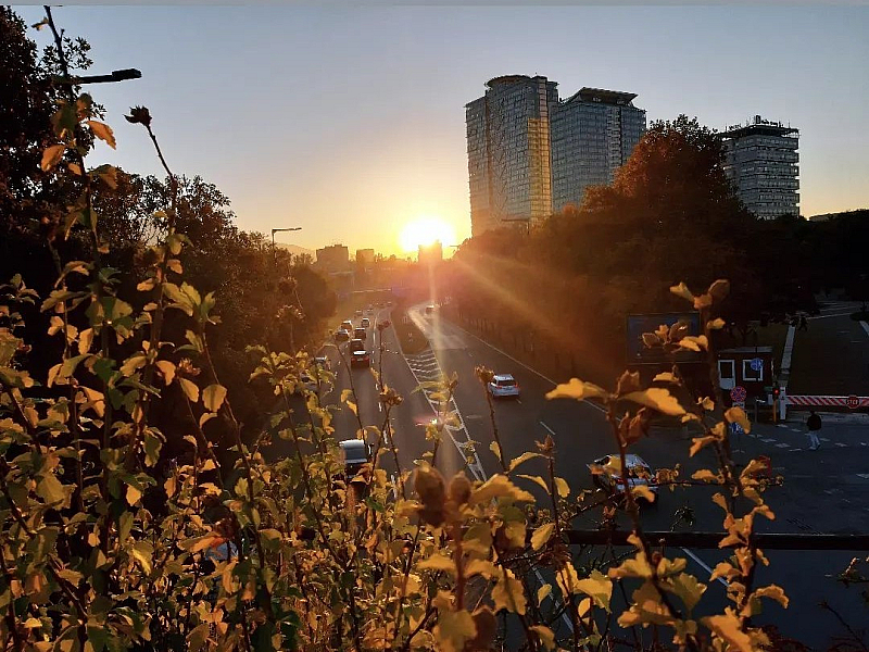
[(799, 214), (799, 129), (754, 116), (720, 134), (725, 173), (755, 216)]

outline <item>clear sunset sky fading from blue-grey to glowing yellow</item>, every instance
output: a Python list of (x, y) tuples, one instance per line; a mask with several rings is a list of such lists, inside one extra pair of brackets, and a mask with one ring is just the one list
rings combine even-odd
[[(38, 7), (15, 7), (28, 23)], [(464, 105), (488, 79), (544, 75), (638, 95), (647, 121), (722, 129), (760, 114), (799, 129), (801, 212), (869, 206), (869, 7), (74, 7), (90, 87), (117, 150), (89, 163), (161, 174), (129, 125), (147, 105), (169, 166), (231, 201), (278, 241), (402, 253), (428, 218), (470, 235)], [(30, 30), (40, 45), (47, 30)], [(432, 222), (429, 222), (432, 224)], [(282, 237), (281, 237), (282, 236)]]

